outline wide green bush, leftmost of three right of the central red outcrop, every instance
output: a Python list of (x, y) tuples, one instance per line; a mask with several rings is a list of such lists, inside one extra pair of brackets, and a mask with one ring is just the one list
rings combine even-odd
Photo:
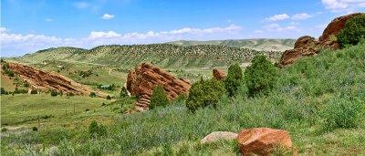
[(189, 98), (186, 99), (186, 107), (191, 111), (210, 105), (216, 107), (218, 100), (224, 95), (225, 88), (221, 81), (214, 78), (197, 81), (190, 88)]

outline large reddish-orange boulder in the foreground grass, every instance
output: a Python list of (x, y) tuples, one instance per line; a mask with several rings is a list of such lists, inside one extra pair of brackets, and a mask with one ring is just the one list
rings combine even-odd
[(238, 147), (245, 155), (268, 155), (277, 146), (292, 149), (292, 142), (286, 130), (254, 128), (242, 130), (237, 136)]

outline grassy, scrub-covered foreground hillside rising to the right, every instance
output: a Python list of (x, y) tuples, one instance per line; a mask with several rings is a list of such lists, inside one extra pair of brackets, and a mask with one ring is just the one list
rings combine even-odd
[[(96, 138), (90, 138), (87, 126), (9, 135), (2, 137), (2, 154), (239, 155), (235, 141), (199, 141), (213, 131), (268, 127), (287, 130), (294, 151), (303, 155), (365, 155), (364, 60), (364, 44), (324, 51), (280, 69), (268, 96), (247, 98), (243, 87), (235, 98), (224, 96), (216, 109), (194, 113), (174, 101), (166, 108), (114, 117), (106, 134)], [(339, 108), (343, 103), (350, 107)], [(332, 120), (353, 124), (333, 125)]]

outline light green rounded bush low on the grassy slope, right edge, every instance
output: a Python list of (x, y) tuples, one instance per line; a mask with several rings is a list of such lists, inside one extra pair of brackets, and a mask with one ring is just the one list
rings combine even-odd
[(364, 104), (359, 99), (334, 99), (328, 102), (323, 113), (325, 116), (324, 130), (339, 128), (357, 128), (360, 116), (363, 115)]

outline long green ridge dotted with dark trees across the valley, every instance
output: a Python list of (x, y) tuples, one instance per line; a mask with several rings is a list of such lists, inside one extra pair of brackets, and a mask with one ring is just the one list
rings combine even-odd
[(49, 48), (16, 57), (14, 60), (31, 64), (45, 60), (64, 60), (130, 68), (148, 62), (161, 68), (206, 68), (229, 66), (232, 62), (249, 62), (255, 55), (260, 54), (277, 59), (282, 52), (214, 45), (110, 45), (89, 50), (74, 47)]

